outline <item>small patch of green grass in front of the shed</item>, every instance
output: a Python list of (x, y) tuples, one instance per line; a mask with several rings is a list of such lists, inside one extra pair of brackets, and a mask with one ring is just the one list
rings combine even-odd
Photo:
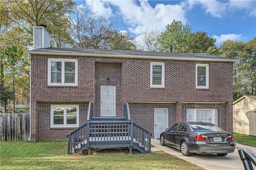
[(233, 133), (235, 142), (248, 145), (252, 147), (256, 147), (256, 136), (241, 134), (241, 133)]

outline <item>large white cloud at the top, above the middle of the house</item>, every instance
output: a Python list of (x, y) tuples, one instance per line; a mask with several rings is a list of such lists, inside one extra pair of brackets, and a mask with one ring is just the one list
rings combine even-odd
[[(138, 35), (140, 30), (150, 25), (153, 28), (164, 30), (165, 25), (179, 20), (187, 22), (186, 11), (181, 5), (156, 4), (152, 7), (147, 0), (139, 1), (110, 1), (110, 0), (87, 0), (94, 12), (111, 11), (112, 16), (121, 16), (123, 22), (128, 25), (128, 30)], [(112, 8), (112, 10), (111, 10)]]

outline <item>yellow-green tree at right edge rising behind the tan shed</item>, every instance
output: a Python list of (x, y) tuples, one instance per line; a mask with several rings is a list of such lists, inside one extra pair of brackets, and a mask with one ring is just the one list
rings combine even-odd
[(237, 60), (234, 64), (233, 98), (256, 95), (256, 38), (248, 43), (227, 40), (220, 46), (220, 55)]

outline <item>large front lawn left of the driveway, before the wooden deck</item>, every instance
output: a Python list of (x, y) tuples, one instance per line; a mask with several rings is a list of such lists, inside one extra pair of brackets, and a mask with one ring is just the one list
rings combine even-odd
[(163, 151), (128, 154), (123, 149), (67, 155), (67, 141), (0, 142), (0, 169), (203, 169)]

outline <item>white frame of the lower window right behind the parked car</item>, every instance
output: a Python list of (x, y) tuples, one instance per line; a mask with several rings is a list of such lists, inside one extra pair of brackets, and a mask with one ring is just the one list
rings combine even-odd
[[(199, 110), (211, 110), (212, 111), (212, 122), (213, 124), (215, 125), (218, 125), (218, 109), (217, 108), (187, 108), (187, 121), (188, 122), (196, 122), (196, 111), (199, 111)], [(188, 113), (190, 112), (190, 113)], [(191, 115), (192, 118), (191, 120), (189, 119), (189, 114), (193, 114)]]

